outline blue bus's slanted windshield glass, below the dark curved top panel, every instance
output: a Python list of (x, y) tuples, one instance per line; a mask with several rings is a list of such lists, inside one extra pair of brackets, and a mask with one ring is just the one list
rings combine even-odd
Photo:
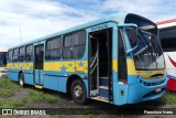
[(138, 49), (133, 52), (136, 68), (164, 68), (163, 52), (156, 36), (140, 30), (138, 37)]

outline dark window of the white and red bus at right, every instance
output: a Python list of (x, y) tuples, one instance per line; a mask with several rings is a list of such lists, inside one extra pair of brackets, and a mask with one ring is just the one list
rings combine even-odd
[(161, 30), (160, 40), (164, 52), (176, 51), (176, 28)]

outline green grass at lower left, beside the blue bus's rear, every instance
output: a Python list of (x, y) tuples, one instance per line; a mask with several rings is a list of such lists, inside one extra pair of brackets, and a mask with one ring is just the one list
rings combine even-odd
[(0, 108), (18, 108), (24, 104), (34, 103), (56, 103), (59, 97), (56, 94), (44, 93), (44, 90), (32, 89), (29, 87), (30, 95), (21, 99), (10, 99), (16, 92), (22, 90), (18, 83), (10, 81), (7, 76), (0, 78)]

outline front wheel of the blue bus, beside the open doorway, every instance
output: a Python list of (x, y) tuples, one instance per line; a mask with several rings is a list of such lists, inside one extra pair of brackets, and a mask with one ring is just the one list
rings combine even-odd
[(72, 98), (76, 104), (82, 105), (86, 103), (86, 87), (79, 79), (73, 82), (70, 87)]

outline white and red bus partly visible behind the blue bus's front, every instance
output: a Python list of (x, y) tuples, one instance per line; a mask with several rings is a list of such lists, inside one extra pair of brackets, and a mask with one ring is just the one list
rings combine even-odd
[(163, 47), (167, 72), (167, 89), (176, 90), (176, 19), (156, 23), (160, 29), (160, 41)]

